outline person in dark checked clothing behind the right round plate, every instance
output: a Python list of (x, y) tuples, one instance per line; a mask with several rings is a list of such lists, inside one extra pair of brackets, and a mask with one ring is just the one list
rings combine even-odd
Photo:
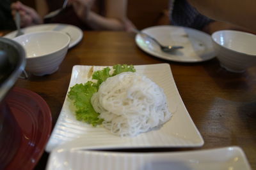
[(213, 20), (199, 13), (186, 0), (170, 0), (170, 22), (172, 25), (191, 27), (212, 34), (223, 29), (248, 31), (228, 22)]

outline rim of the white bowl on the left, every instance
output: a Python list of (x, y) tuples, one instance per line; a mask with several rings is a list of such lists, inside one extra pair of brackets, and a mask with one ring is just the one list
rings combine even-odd
[[(61, 32), (61, 31), (36, 31), (36, 32), (29, 32), (28, 34), (23, 34), (23, 35), (21, 35), (21, 36), (18, 36), (18, 37), (16, 37), (17, 39), (18, 38), (20, 38), (20, 37), (22, 37), (22, 36), (29, 36), (29, 35), (32, 35), (32, 34), (38, 34), (38, 33), (54, 33), (54, 34), (62, 34), (62, 35), (65, 35), (65, 37), (66, 38), (68, 38), (68, 41), (67, 41), (67, 43), (65, 44), (65, 45), (63, 45), (63, 46), (61, 46), (61, 48), (58, 48), (58, 49), (56, 49), (56, 50), (54, 50), (54, 51), (52, 51), (52, 52), (50, 52), (50, 53), (45, 53), (44, 55), (40, 55), (40, 56), (32, 56), (32, 57), (28, 57), (27, 56), (27, 54), (26, 54), (26, 59), (28, 60), (28, 59), (38, 59), (38, 58), (41, 58), (41, 57), (45, 57), (46, 55), (52, 55), (52, 54), (54, 54), (54, 53), (57, 53), (57, 52), (59, 52), (60, 50), (62, 50), (63, 48), (67, 48), (68, 47), (68, 45), (69, 45), (69, 43), (70, 43), (70, 41), (71, 41), (71, 38), (70, 38), (70, 36), (68, 35), (68, 34), (65, 34), (64, 32)], [(13, 40), (14, 41), (16, 41), (17, 43), (19, 43), (18, 41), (17, 41), (17, 39), (16, 38), (13, 38)], [(20, 43), (19, 43), (20, 44)], [(23, 47), (23, 45), (21, 45), (22, 47)], [(24, 48), (24, 47), (23, 47)], [(25, 48), (24, 48), (25, 49)], [(68, 49), (67, 49), (68, 50)], [(25, 50), (25, 52), (26, 52), (26, 50)]]

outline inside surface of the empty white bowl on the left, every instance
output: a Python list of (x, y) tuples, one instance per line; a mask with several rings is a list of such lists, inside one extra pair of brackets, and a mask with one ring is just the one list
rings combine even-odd
[(40, 57), (57, 52), (68, 45), (70, 38), (63, 32), (42, 31), (24, 34), (17, 38), (26, 51), (26, 57)]

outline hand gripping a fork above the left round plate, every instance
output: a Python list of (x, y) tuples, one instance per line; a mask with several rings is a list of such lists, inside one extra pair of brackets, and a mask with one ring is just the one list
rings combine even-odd
[(20, 27), (28, 27), (30, 25), (42, 24), (42, 18), (36, 13), (33, 8), (26, 6), (20, 1), (11, 4), (12, 15), (15, 18), (15, 13), (20, 13)]

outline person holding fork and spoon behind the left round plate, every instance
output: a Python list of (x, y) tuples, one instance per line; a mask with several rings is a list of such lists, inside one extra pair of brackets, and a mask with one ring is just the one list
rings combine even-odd
[(44, 19), (50, 11), (61, 8), (64, 1), (35, 0), (36, 10), (19, 1), (12, 3), (12, 15), (19, 11), (21, 27), (43, 23), (62, 23), (83, 30), (131, 31), (132, 22), (126, 17), (126, 0), (68, 0), (65, 10), (56, 17)]

